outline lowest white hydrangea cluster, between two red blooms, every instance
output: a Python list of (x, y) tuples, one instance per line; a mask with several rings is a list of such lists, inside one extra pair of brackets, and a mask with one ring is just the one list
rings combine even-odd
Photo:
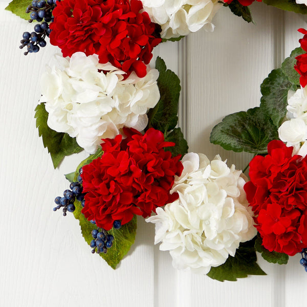
[(171, 193), (179, 199), (157, 215), (155, 244), (170, 252), (177, 269), (207, 274), (234, 256), (240, 242), (256, 235), (253, 213), (243, 190), (242, 171), (229, 168), (220, 156), (211, 162), (201, 153), (187, 153), (182, 175), (175, 178)]

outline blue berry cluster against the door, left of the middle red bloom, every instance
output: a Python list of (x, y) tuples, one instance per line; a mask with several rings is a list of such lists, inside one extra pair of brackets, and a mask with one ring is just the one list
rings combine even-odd
[[(82, 173), (82, 168), (79, 169), (79, 172)], [(70, 190), (65, 190), (63, 196), (57, 196), (54, 200), (56, 207), (53, 208), (53, 211), (56, 211), (60, 208), (63, 208), (63, 215), (67, 215), (68, 212), (74, 212), (76, 207), (74, 205), (75, 200), (81, 202), (82, 207), (84, 207), (84, 193), (82, 193), (82, 178), (79, 175), (77, 182), (72, 182), (70, 184)]]

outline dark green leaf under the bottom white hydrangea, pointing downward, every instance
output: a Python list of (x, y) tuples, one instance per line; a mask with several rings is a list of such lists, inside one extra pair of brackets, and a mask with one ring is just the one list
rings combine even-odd
[(236, 281), (237, 278), (244, 278), (248, 275), (267, 275), (257, 265), (254, 244), (255, 238), (241, 243), (234, 257), (229, 256), (223, 265), (212, 267), (207, 275), (219, 281)]

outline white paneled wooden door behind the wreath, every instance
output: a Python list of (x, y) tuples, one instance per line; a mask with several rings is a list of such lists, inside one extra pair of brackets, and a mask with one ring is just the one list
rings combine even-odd
[[(67, 188), (63, 174), (85, 155), (54, 170), (35, 128), (39, 75), (57, 52), (46, 47), (25, 57), (21, 33), (32, 26), (4, 11), (0, 0), (0, 306), (240, 307), (299, 306), (307, 273), (299, 256), (287, 266), (268, 264), (267, 276), (218, 282), (177, 271), (167, 252), (153, 246), (154, 226), (138, 218), (136, 243), (114, 271), (92, 255), (78, 221), (53, 213), (53, 199)], [(190, 151), (244, 168), (251, 158), (209, 143), (212, 127), (230, 113), (259, 105), (260, 83), (299, 46), (307, 18), (261, 3), (251, 6), (256, 25), (222, 9), (213, 33), (199, 31), (158, 46), (182, 81), (180, 125)]]

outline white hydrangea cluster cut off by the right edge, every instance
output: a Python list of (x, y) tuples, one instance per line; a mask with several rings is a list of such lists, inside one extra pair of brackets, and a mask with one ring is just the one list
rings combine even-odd
[(279, 139), (293, 146), (293, 153), (306, 155), (307, 146), (307, 86), (288, 92), (287, 120), (278, 128)]

